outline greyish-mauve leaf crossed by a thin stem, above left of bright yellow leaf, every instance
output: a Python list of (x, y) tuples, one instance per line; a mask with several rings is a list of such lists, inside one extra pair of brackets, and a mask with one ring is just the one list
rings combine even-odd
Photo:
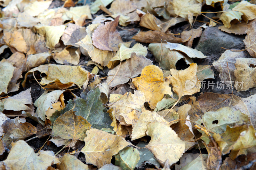
[(147, 65), (150, 65), (151, 63), (151, 60), (147, 59), (142, 55), (131, 54), (131, 58), (127, 59), (125, 62), (122, 62), (120, 68), (119, 66), (117, 66), (114, 69), (108, 71), (108, 76), (115, 75), (116, 71), (119, 69), (117, 74), (122, 76), (115, 76), (113, 80), (113, 76), (109, 76), (107, 77), (106, 82), (109, 83), (112, 80), (109, 83), (110, 87), (127, 83), (130, 80), (130, 78), (134, 78), (141, 74), (141, 70)]

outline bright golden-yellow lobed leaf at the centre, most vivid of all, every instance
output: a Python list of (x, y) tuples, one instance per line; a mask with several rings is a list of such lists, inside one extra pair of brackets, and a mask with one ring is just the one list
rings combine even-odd
[(151, 109), (154, 109), (157, 102), (163, 99), (164, 94), (172, 96), (169, 82), (164, 82), (163, 71), (155, 65), (144, 67), (141, 76), (132, 78), (132, 82), (137, 90), (145, 94), (146, 102)]

